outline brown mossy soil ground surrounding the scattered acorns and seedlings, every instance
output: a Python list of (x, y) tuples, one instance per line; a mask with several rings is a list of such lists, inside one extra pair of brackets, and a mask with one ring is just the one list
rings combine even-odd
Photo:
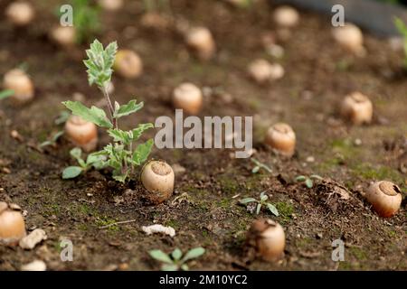
[[(181, 165), (185, 172), (176, 173), (173, 197), (153, 206), (137, 180), (119, 185), (109, 172), (96, 171), (62, 180), (62, 170), (74, 163), (72, 145), (63, 138), (55, 147), (38, 150), (38, 144), (61, 129), (54, 119), (63, 110), (63, 100), (80, 92), (87, 105), (94, 105), (101, 96), (89, 87), (80, 61), (87, 45), (63, 50), (47, 37), (47, 29), (57, 24), (53, 13), (58, 1), (32, 2), (37, 20), (28, 29), (16, 30), (0, 20), (0, 74), (24, 64), (36, 89), (35, 101), (24, 107), (0, 104), (0, 200), (19, 204), (27, 212), (26, 228), (43, 228), (48, 238), (33, 250), (0, 246), (0, 269), (18, 270), (43, 259), (49, 270), (158, 270), (160, 264), (148, 256), (149, 250), (198, 246), (206, 253), (189, 263), (194, 270), (407, 269), (405, 201), (393, 218), (382, 219), (363, 197), (370, 182), (389, 180), (401, 187), (405, 198), (407, 76), (402, 51), (392, 51), (385, 39), (366, 33), (367, 57), (355, 57), (332, 41), (328, 17), (301, 11), (301, 23), (291, 37), (279, 40), (285, 56), (276, 60), (260, 41), (264, 33), (278, 32), (270, 17), (273, 5), (260, 1), (236, 9), (220, 1), (172, 1), (176, 19), (213, 32), (217, 56), (202, 62), (171, 29), (142, 27), (138, 1), (127, 1), (120, 17), (104, 13), (99, 40), (118, 40), (119, 47), (137, 51), (145, 64), (139, 79), (113, 79), (118, 102), (145, 102), (136, 117), (122, 121), (125, 128), (174, 117), (171, 91), (191, 81), (215, 92), (206, 96), (201, 117), (254, 117), (253, 157), (272, 169), (252, 173), (251, 159), (235, 159), (227, 149), (155, 149), (151, 157)], [(0, 10), (8, 3), (2, 1)], [(257, 58), (280, 62), (285, 77), (270, 85), (254, 83), (246, 67)], [(337, 115), (338, 101), (354, 90), (374, 102), (374, 123), (369, 126), (349, 126)], [(262, 144), (268, 126), (279, 121), (296, 131), (292, 159)], [(13, 138), (12, 130), (21, 137)], [(145, 139), (154, 135), (152, 130)], [(101, 131), (99, 137), (99, 147), (109, 142)], [(324, 180), (311, 189), (292, 181), (313, 173)], [(267, 210), (256, 216), (239, 204), (244, 197), (259, 198), (261, 191), (267, 191), (279, 217)], [(260, 217), (285, 229), (287, 245), (279, 262), (244, 255), (246, 232)], [(115, 224), (126, 220), (133, 221)], [(175, 237), (147, 236), (141, 230), (154, 223), (175, 228)], [(73, 243), (73, 262), (60, 259), (62, 238)], [(345, 242), (345, 261), (334, 262), (331, 244), (339, 238)]]

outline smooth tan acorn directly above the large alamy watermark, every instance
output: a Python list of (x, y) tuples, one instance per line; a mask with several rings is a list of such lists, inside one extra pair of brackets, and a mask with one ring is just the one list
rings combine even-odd
[(174, 89), (173, 104), (190, 115), (197, 114), (203, 105), (201, 89), (192, 83), (183, 83)]

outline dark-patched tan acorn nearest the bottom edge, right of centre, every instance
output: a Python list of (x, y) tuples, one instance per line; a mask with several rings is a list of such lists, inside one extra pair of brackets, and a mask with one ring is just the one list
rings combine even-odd
[(269, 262), (278, 261), (286, 246), (284, 229), (271, 219), (256, 219), (248, 231), (246, 245), (254, 247), (260, 258)]

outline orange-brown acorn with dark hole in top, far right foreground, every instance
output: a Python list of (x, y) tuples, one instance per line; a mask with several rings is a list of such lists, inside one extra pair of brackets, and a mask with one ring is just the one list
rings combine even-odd
[(393, 182), (374, 182), (368, 188), (365, 198), (380, 217), (390, 218), (402, 204), (402, 191)]

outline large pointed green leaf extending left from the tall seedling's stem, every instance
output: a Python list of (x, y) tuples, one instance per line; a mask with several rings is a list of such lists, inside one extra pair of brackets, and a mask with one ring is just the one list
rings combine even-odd
[(75, 116), (82, 117), (83, 119), (90, 121), (97, 126), (103, 126), (112, 128), (113, 125), (106, 117), (106, 113), (103, 109), (99, 107), (85, 107), (79, 101), (64, 101), (62, 104), (71, 110), (72, 114)]

